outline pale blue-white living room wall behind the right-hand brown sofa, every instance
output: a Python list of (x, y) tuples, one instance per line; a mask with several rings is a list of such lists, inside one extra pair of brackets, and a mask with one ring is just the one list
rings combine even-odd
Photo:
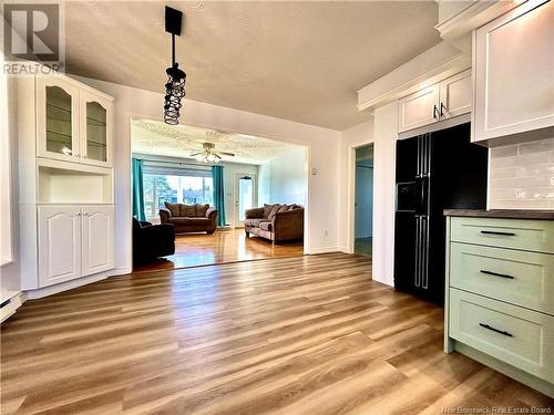
[(306, 148), (296, 148), (259, 166), (261, 204), (306, 205)]

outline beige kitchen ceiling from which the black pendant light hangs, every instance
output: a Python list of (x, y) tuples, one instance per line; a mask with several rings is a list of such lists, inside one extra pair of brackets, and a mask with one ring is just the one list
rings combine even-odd
[[(163, 92), (165, 4), (68, 2), (68, 72)], [(435, 1), (167, 4), (185, 13), (177, 61), (187, 97), (334, 129), (369, 117), (358, 89), (440, 41)]]

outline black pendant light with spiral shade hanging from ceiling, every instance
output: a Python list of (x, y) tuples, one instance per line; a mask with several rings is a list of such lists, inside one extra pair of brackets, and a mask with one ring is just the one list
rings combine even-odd
[(165, 31), (172, 35), (172, 65), (165, 70), (167, 82), (165, 84), (164, 122), (178, 124), (181, 100), (185, 97), (186, 73), (178, 69), (175, 62), (175, 37), (181, 35), (183, 12), (165, 7)]

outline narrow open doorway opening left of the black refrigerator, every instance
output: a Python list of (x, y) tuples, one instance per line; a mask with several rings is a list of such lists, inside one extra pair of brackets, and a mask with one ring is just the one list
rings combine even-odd
[(355, 253), (371, 258), (373, 250), (373, 144), (356, 148)]

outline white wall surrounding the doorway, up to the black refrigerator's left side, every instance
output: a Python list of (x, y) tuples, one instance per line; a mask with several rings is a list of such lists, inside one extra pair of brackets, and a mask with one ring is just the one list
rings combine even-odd
[(342, 132), (340, 148), (340, 246), (353, 252), (353, 147), (373, 143), (373, 280), (393, 286), (394, 168), (398, 105), (375, 111), (373, 121)]

